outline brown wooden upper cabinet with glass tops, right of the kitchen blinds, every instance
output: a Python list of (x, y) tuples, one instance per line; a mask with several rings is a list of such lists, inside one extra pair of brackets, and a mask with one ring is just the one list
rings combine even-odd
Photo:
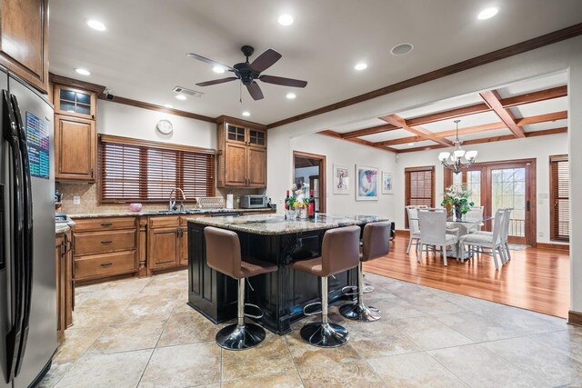
[(266, 129), (232, 117), (217, 120), (218, 187), (266, 187)]

